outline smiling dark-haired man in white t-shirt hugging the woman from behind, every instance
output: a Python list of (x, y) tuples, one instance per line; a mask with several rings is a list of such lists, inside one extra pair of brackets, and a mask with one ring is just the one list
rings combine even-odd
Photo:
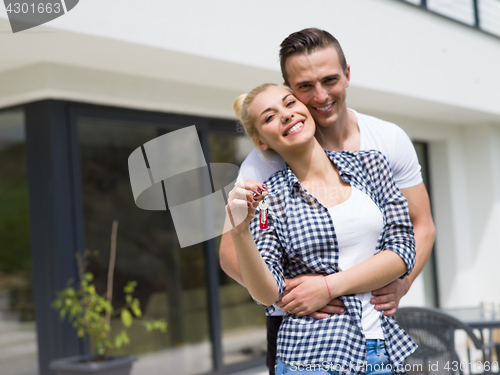
[[(312, 28), (289, 35), (281, 43), (280, 64), (285, 84), (312, 114), (316, 122), (315, 136), (321, 146), (331, 151), (379, 150), (388, 159), (394, 180), (408, 201), (416, 242), (415, 267), (405, 279), (373, 291), (374, 297), (370, 301), (375, 309), (384, 311), (387, 316), (392, 315), (399, 300), (424, 268), (435, 235), (429, 197), (413, 144), (397, 125), (347, 108), (350, 66), (338, 41), (330, 33)], [(270, 154), (263, 160), (253, 150), (243, 162), (238, 180), (263, 182), (283, 167), (284, 161), (279, 156)], [(243, 284), (229, 233), (221, 239), (220, 263), (229, 276)], [(282, 296), (279, 304), (283, 310), (287, 311), (287, 304), (292, 300), (302, 299), (307, 304), (308, 297), (299, 297), (293, 290), (300, 283), (307, 282), (307, 275), (287, 282), (287, 294)], [(343, 312), (342, 302), (335, 299), (312, 316), (321, 319), (326, 313)], [(267, 365), (271, 374), (274, 374), (276, 337), (281, 323), (279, 310), (277, 314), (267, 318)]]

